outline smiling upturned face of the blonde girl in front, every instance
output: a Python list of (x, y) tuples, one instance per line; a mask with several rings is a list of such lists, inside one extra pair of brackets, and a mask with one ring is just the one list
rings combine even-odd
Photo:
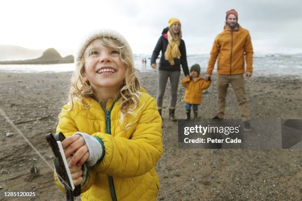
[[(109, 41), (113, 43), (111, 39)], [(84, 60), (85, 76), (93, 89), (107, 87), (118, 90), (121, 87), (127, 67), (121, 61), (118, 49), (95, 39), (87, 47)]]

